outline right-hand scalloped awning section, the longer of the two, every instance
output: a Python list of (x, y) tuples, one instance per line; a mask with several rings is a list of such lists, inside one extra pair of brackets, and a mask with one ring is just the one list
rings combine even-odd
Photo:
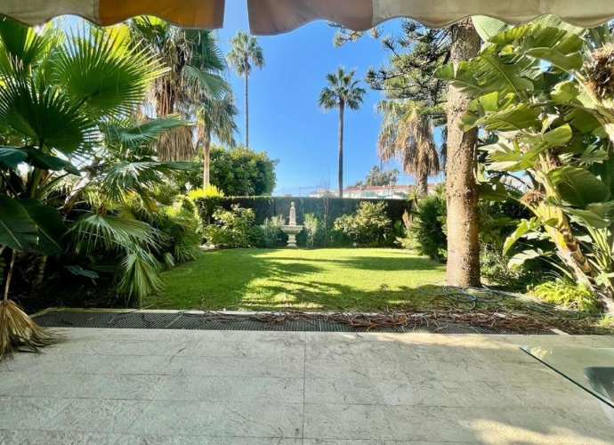
[(410, 17), (442, 28), (473, 15), (523, 23), (545, 14), (582, 27), (614, 18), (614, 0), (247, 0), (251, 32), (283, 33), (327, 19), (362, 31), (385, 20)]

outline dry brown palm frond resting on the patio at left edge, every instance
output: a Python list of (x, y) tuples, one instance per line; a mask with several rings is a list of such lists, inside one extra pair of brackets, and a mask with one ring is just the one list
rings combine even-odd
[(49, 344), (57, 343), (61, 336), (41, 328), (11, 300), (0, 302), (0, 360), (12, 358), (20, 348), (39, 352)]

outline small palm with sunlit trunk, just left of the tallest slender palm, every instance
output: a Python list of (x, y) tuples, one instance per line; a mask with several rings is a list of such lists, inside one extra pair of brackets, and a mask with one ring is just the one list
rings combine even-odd
[(204, 97), (196, 110), (198, 145), (203, 145), (203, 190), (209, 185), (211, 136), (214, 135), (220, 142), (234, 145), (233, 134), (238, 130), (234, 117), (237, 114), (238, 109), (231, 94), (226, 94), (220, 101)]

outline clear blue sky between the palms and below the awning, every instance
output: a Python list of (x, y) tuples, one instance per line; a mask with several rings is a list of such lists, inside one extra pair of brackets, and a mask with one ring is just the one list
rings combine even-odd
[[(238, 29), (248, 30), (246, 4), (226, 2), (224, 28), (219, 31), (224, 53), (230, 48), (230, 37)], [(399, 29), (398, 21), (385, 25), (387, 32)], [(308, 193), (330, 177), (332, 188), (337, 186), (337, 125), (338, 112), (325, 113), (318, 109), (319, 92), (327, 72), (343, 65), (357, 69), (364, 77), (369, 66), (386, 61), (382, 45), (369, 36), (355, 43), (333, 46), (335, 29), (324, 21), (315, 21), (281, 36), (259, 37), (266, 66), (254, 70), (249, 84), (249, 140), (254, 150), (266, 150), (271, 158), (279, 159), (276, 194)], [(241, 115), (238, 141), (245, 141), (243, 78), (230, 73)], [(368, 94), (359, 111), (345, 114), (343, 144), (343, 182), (347, 186), (363, 179), (372, 166), (379, 165), (376, 140), (381, 118), (375, 114), (379, 92), (363, 85)], [(405, 175), (403, 183), (413, 182)], [(303, 188), (303, 190), (299, 190)]]

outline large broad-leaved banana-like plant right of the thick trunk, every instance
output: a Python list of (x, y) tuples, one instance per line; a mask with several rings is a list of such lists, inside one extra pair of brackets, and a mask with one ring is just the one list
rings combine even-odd
[[(490, 175), (483, 198), (524, 190), (520, 202), (534, 214), (505, 250), (537, 233), (551, 241), (576, 282), (611, 298), (610, 39), (607, 26), (586, 31), (531, 24), (492, 36), (478, 57), (444, 67), (439, 76), (473, 97), (463, 127), (489, 132), (481, 149)], [(531, 249), (513, 261), (547, 254)]]

